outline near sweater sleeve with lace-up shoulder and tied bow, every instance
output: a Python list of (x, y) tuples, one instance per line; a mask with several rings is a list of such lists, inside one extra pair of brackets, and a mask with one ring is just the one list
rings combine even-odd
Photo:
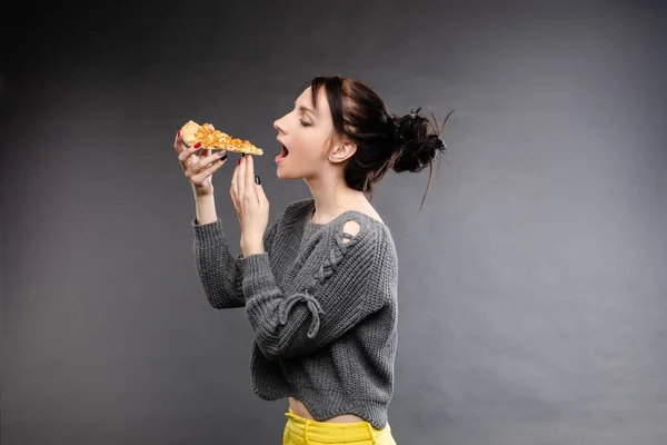
[(246, 312), (267, 358), (278, 362), (316, 352), (395, 298), (395, 258), (382, 255), (388, 250), (372, 238), (355, 241), (338, 240), (311, 288), (291, 295), (276, 285), (268, 254), (239, 259)]

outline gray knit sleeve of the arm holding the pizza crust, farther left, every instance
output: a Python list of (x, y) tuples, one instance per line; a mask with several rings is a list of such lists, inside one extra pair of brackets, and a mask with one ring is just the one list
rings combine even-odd
[[(267, 250), (272, 244), (277, 226), (278, 218), (265, 233), (263, 243)], [(246, 299), (239, 257), (235, 258), (229, 251), (220, 218), (203, 225), (197, 225), (195, 218), (192, 231), (197, 274), (209, 304), (216, 309), (243, 307)]]

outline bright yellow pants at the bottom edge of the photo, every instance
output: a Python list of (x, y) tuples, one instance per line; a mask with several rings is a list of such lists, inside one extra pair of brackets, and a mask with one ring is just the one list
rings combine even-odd
[(282, 445), (396, 445), (389, 424), (384, 429), (375, 428), (368, 422), (327, 423), (309, 421), (289, 408), (282, 434)]

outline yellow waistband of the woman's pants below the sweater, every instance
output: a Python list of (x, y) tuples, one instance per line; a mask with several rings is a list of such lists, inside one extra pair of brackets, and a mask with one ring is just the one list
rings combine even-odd
[(370, 439), (375, 443), (391, 431), (389, 424), (384, 429), (377, 429), (366, 421), (355, 423), (310, 421), (295, 414), (291, 407), (285, 415), (288, 417), (286, 428), (303, 437), (306, 443), (309, 439), (323, 443)]

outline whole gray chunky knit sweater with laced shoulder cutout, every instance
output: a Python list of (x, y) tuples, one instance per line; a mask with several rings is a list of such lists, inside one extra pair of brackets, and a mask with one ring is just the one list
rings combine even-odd
[[(356, 210), (311, 221), (312, 199), (268, 227), (265, 254), (233, 257), (220, 219), (192, 220), (203, 291), (217, 309), (245, 307), (255, 330), (252, 389), (296, 397), (325, 421), (356, 414), (381, 429), (394, 393), (398, 259), (389, 228)], [(347, 234), (347, 221), (359, 233)]]

